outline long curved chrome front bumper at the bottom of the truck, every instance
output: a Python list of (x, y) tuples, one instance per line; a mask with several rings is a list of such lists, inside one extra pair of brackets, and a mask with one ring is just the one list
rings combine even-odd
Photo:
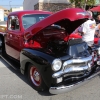
[(100, 71), (93, 74), (93, 75), (91, 75), (88, 78), (85, 78), (83, 81), (77, 82), (77, 83), (72, 84), (72, 85), (60, 86), (60, 87), (50, 87), (49, 92), (51, 94), (61, 94), (61, 93), (69, 92), (73, 89), (76, 89), (76, 88), (80, 87), (81, 85), (86, 84), (87, 82), (89, 82), (91, 79), (93, 79), (94, 77), (96, 77), (99, 74), (100, 74)]

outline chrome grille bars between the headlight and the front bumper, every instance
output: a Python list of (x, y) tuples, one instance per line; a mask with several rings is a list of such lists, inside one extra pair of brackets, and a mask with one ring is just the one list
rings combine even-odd
[(65, 61), (64, 62), (64, 64), (63, 64), (63, 68), (62, 68), (62, 70), (60, 70), (60, 71), (58, 71), (58, 72), (56, 72), (56, 73), (54, 73), (53, 75), (52, 75), (52, 77), (53, 78), (58, 78), (58, 77), (60, 77), (61, 75), (64, 75), (64, 74), (68, 74), (68, 73), (71, 73), (71, 72), (82, 72), (82, 71), (85, 71), (85, 70), (89, 70), (90, 69), (90, 66), (88, 66), (88, 63), (87, 63), (87, 65), (85, 65), (85, 66), (81, 66), (81, 67), (69, 67), (69, 68), (66, 68), (66, 69), (64, 69), (65, 68), (65, 66), (67, 66), (68, 64), (73, 64), (73, 63), (84, 63), (84, 62), (88, 62), (88, 61), (90, 61), (90, 60), (92, 60), (92, 56), (89, 56), (89, 57), (87, 57), (87, 58), (82, 58), (82, 59), (72, 59), (72, 60), (68, 60), (68, 61)]

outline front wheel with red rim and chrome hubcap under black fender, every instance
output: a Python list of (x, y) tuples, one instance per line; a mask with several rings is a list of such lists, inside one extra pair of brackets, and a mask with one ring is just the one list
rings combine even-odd
[(28, 79), (32, 87), (37, 91), (43, 91), (46, 89), (41, 73), (38, 68), (32, 64), (29, 64), (28, 66)]

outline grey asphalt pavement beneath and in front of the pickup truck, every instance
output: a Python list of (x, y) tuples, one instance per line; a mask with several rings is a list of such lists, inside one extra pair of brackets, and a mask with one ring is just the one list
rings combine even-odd
[(51, 95), (35, 91), (19, 71), (0, 58), (0, 100), (100, 100), (100, 78), (68, 93)]

